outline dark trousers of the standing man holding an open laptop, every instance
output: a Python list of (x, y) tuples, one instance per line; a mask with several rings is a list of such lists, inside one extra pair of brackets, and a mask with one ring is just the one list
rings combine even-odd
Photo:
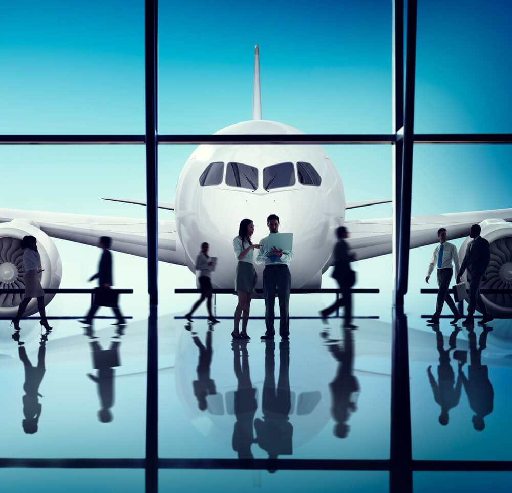
[(274, 329), (274, 306), (275, 294), (278, 294), (279, 301), (279, 335), (288, 337), (290, 335), (290, 319), (288, 307), (290, 304), (291, 274), (288, 265), (275, 264), (267, 265), (263, 270), (263, 295), (265, 297), (265, 335), (273, 336)]

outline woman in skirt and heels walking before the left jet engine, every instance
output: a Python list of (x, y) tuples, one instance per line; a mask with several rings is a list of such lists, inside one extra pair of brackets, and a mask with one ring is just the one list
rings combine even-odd
[(27, 308), (32, 298), (37, 298), (37, 308), (41, 314), (41, 320), (39, 323), (46, 328), (47, 331), (52, 330), (52, 327), (48, 325), (45, 311), (45, 292), (41, 287), (39, 281), (39, 274), (44, 271), (41, 269), (41, 257), (37, 251), (37, 239), (34, 236), (24, 236), (21, 244), (23, 250), (23, 269), (25, 271), (23, 275), (23, 282), (25, 284), (25, 293), (23, 300), (19, 303), (18, 313), (16, 317), (12, 319), (14, 328), (19, 331), (19, 320), (22, 318), (23, 312)]

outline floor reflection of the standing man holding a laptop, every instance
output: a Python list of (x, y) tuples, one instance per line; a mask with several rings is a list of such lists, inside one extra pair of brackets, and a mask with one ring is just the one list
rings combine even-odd
[[(279, 377), (275, 386), (275, 343), (269, 341), (265, 347), (265, 380), (263, 382), (262, 410), (263, 420), (254, 420), (256, 441), (266, 450), (269, 459), (277, 459), (278, 455), (293, 453), (293, 426), (289, 421), (291, 410), (290, 392), (290, 343), (281, 341), (279, 344)], [(269, 473), (275, 473), (274, 464), (269, 463)]]

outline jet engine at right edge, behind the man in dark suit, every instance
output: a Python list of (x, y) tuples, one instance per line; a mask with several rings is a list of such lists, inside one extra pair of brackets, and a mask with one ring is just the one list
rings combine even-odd
[[(485, 279), (481, 281), (480, 288), (486, 289), (512, 289), (512, 223), (503, 219), (486, 219), (480, 223), (482, 231), (480, 236), (489, 242), (490, 263), (485, 272)], [(460, 261), (464, 259), (467, 244), (471, 238), (466, 238), (459, 249)], [(462, 280), (467, 282), (467, 270)], [(469, 298), (466, 295), (466, 301)], [(490, 315), (497, 318), (512, 318), (512, 294), (483, 294)], [(479, 310), (477, 304), (477, 310)]]

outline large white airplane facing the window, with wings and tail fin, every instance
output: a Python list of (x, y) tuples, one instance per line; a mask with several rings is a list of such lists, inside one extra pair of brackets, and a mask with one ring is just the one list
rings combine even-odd
[[(288, 125), (261, 119), (256, 47), (253, 119), (226, 127), (217, 134), (300, 133)], [(145, 204), (137, 200), (111, 200)], [(347, 209), (383, 202), (389, 200), (346, 203), (339, 174), (320, 146), (200, 145), (181, 171), (175, 203), (159, 204), (162, 209), (174, 210), (176, 221), (159, 223), (159, 259), (186, 265), (194, 271), (199, 246), (208, 241), (210, 251), (219, 257), (214, 284), (232, 287), (236, 259), (231, 241), (240, 220), (248, 217), (254, 221), (253, 239), (258, 241), (268, 234), (267, 216), (275, 213), (281, 219), (282, 231), (294, 233), (292, 287), (319, 287), (322, 274), (331, 265), (334, 230), (341, 224), (349, 226), (350, 246), (358, 259), (391, 252), (391, 218), (345, 221)], [(492, 218), (512, 220), (512, 209), (413, 217), (411, 247), (436, 242), (439, 225), (449, 228), (451, 238), (460, 238), (467, 235), (472, 223)], [(40, 250), (45, 250), (41, 252), (46, 269), (41, 280), (44, 287), (58, 287), (61, 276), (60, 257), (48, 236), (94, 245), (98, 236), (108, 235), (113, 238), (112, 250), (146, 256), (146, 225), (140, 219), (0, 209), (0, 222), (5, 223), (0, 225), (0, 288), (23, 287), (19, 239), (25, 234), (36, 236), (42, 246)], [(512, 237), (512, 227), (501, 221), (494, 223), (492, 229), (492, 241), (501, 240), (495, 249), (494, 277), (496, 283), (509, 285), (512, 239), (503, 238)], [(262, 276), (259, 279), (261, 282)], [(46, 301), (51, 297), (48, 295)], [(0, 314), (14, 316), (20, 300), (20, 295), (0, 295)], [(499, 309), (497, 313), (490, 307), (495, 315), (508, 316), (512, 311), (512, 297), (497, 297), (492, 303)], [(32, 300), (26, 314), (34, 313), (35, 309)]]

